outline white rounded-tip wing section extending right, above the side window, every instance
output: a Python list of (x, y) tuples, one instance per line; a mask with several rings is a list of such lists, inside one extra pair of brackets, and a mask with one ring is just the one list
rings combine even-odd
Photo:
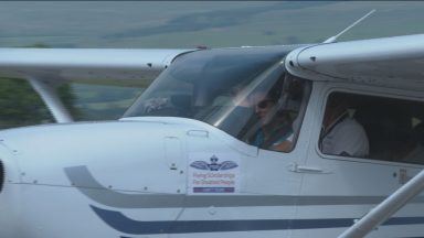
[(424, 34), (310, 45), (286, 58), (297, 76), (424, 90)]

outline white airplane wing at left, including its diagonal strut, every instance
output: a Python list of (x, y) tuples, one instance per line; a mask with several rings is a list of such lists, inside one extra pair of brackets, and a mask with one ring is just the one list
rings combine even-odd
[(54, 86), (67, 79), (140, 80), (156, 77), (193, 50), (0, 48), (0, 77), (24, 78), (57, 122), (72, 121)]

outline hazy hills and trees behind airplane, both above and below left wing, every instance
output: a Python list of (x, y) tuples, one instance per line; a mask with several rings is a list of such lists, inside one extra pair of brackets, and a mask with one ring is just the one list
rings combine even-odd
[[(420, 1), (0, 1), (0, 47), (191, 48), (339, 41), (424, 32)], [(116, 119), (137, 85), (62, 85), (77, 120)], [(25, 80), (0, 79), (0, 128), (52, 122)]]

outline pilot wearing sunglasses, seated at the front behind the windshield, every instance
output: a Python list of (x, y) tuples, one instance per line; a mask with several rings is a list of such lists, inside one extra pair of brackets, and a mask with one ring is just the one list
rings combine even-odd
[(252, 106), (259, 119), (261, 127), (251, 138), (253, 145), (274, 151), (287, 152), (292, 149), (293, 129), (286, 111), (272, 112), (278, 100), (278, 94), (256, 91), (250, 96)]

